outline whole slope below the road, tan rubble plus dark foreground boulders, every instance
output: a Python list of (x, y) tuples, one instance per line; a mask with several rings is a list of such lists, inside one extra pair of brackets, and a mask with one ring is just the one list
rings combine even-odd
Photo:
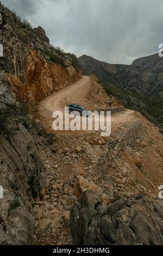
[(39, 138), (50, 182), (33, 209), (36, 245), (163, 243), (163, 137), (140, 113), (118, 117), (110, 137), (78, 131), (57, 132), (51, 144)]

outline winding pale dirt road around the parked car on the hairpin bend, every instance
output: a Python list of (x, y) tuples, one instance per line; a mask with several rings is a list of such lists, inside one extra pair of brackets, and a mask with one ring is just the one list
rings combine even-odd
[[(65, 116), (64, 109), (68, 103), (78, 103), (85, 107), (86, 101), (88, 100), (86, 95), (90, 88), (90, 78), (83, 76), (79, 81), (61, 89), (59, 92), (48, 96), (45, 100), (40, 102), (39, 113), (43, 124), (48, 130), (53, 131), (52, 123), (54, 119), (52, 114), (54, 111), (61, 111)], [(80, 117), (78, 117), (80, 118)], [(117, 125), (120, 123), (126, 123), (127, 121), (135, 118), (135, 112), (131, 110), (126, 110), (117, 113), (111, 117), (111, 125)], [(95, 117), (95, 123), (98, 119)]]

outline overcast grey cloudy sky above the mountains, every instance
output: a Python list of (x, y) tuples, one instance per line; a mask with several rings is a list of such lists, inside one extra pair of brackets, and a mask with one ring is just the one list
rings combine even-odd
[(158, 52), (162, 0), (1, 0), (51, 41), (78, 57), (130, 64)]

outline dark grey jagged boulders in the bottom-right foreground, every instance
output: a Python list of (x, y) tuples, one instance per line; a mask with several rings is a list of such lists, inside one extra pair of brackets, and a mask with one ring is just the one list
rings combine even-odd
[(106, 206), (87, 190), (71, 209), (76, 245), (162, 245), (163, 202), (147, 197), (121, 198)]

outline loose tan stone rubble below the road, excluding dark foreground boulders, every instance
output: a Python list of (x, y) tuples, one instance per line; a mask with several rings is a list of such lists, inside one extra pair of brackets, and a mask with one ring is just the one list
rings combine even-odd
[[(95, 191), (104, 205), (110, 205), (119, 198), (139, 196), (140, 193), (151, 199), (157, 197), (158, 179), (163, 182), (162, 137), (155, 126), (137, 115), (143, 121), (141, 137), (137, 137), (135, 144), (126, 144), (123, 149), (120, 141), (115, 143), (108, 169), (97, 184), (92, 177), (98, 177), (95, 173), (98, 163), (104, 161), (108, 147), (130, 124), (115, 126), (108, 138), (102, 138), (98, 132), (73, 133), (73, 136), (45, 132), (38, 136), (49, 191), (41, 202), (36, 201), (34, 205), (35, 245), (73, 244), (70, 211), (87, 189)], [(147, 132), (147, 127), (151, 127), (151, 131), (148, 129)], [(154, 139), (160, 140), (157, 145), (153, 143)], [(155, 173), (151, 173), (151, 157), (153, 167), (159, 165), (158, 179)], [(127, 216), (122, 217), (123, 221), (127, 220)]]

